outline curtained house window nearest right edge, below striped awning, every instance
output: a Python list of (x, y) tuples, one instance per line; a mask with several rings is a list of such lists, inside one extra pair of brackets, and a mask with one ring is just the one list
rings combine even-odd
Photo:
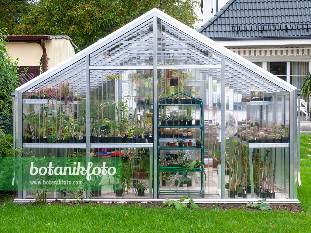
[(309, 69), (309, 62), (290, 62), (290, 84), (301, 88), (301, 84)]

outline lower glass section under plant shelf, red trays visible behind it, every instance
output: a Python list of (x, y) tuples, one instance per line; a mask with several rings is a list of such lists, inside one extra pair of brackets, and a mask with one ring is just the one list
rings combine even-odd
[(91, 148), (92, 158), (100, 164), (105, 162), (107, 166), (115, 167), (117, 172), (114, 176), (102, 176), (97, 185), (91, 184), (91, 198), (150, 197), (149, 148)]

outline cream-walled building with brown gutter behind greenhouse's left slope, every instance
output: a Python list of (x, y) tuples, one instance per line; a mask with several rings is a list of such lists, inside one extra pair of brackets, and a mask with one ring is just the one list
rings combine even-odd
[(32, 80), (75, 54), (74, 44), (68, 36), (36, 35), (7, 36), (7, 48), (13, 58), (18, 57), (21, 70), (27, 68), (22, 83)]

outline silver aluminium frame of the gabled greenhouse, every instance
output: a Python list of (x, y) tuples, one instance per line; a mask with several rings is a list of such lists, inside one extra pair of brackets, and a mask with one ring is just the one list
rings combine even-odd
[[(143, 65), (143, 66), (90, 66), (90, 54), (95, 52), (96, 50), (100, 49), (104, 45), (112, 42), (113, 40), (117, 39), (118, 37), (122, 36), (124, 32), (128, 32), (138, 25), (142, 24), (143, 22), (153, 19), (153, 28), (157, 28), (157, 18), (169, 23), (170, 25), (174, 26), (178, 30), (183, 31), (184, 33), (188, 34), (189, 36), (193, 37), (195, 40), (204, 43), (206, 46), (210, 47), (211, 49), (215, 50), (216, 52), (221, 54), (221, 65), (167, 65), (167, 66), (159, 66), (157, 62), (153, 62), (153, 65)], [(153, 30), (153, 61), (157, 61), (157, 30)], [(252, 62), (247, 61), (246, 59), (238, 56), (237, 54), (231, 52), (229, 49), (220, 46), (218, 43), (208, 39), (204, 35), (200, 34), (199, 32), (191, 29), (190, 27), (183, 25), (179, 21), (175, 20), (174, 18), (166, 15), (160, 10), (156, 8), (147, 12), (146, 14), (140, 16), (136, 20), (130, 22), (129, 24), (123, 26), (122, 28), (116, 30), (115, 32), (111, 33), (110, 35), (106, 36), (103, 39), (100, 39), (93, 45), (89, 46), (88, 48), (84, 49), (83, 51), (77, 53), (76, 55), (72, 56), (71, 58), (67, 59), (66, 61), (58, 64), (57, 66), (53, 67), (52, 69), (44, 72), (43, 74), (39, 75), (38, 77), (34, 78), (33, 80), (27, 82), (26, 84), (18, 87), (15, 91), (15, 146), (16, 148), (22, 148), (22, 95), (24, 92), (29, 90), (30, 88), (35, 87), (39, 83), (47, 80), (52, 75), (57, 74), (58, 72), (62, 71), (64, 68), (78, 62), (82, 58), (86, 58), (86, 112), (90, 112), (90, 70), (115, 70), (115, 69), (122, 69), (122, 70), (132, 70), (132, 69), (152, 69), (153, 70), (153, 77), (157, 77), (157, 70), (158, 69), (221, 69), (221, 125), (225, 125), (225, 58), (229, 58), (233, 61), (236, 61), (241, 66), (253, 71), (254, 73), (260, 75), (264, 79), (272, 82), (273, 84), (277, 85), (278, 87), (284, 89), (285, 91), (289, 92), (290, 95), (290, 112), (289, 112), (289, 127), (290, 127), (290, 142), (288, 144), (289, 148), (289, 157), (290, 157), (290, 169), (289, 169), (289, 199), (269, 199), (271, 203), (298, 203), (297, 200), (297, 139), (296, 139), (296, 132), (297, 132), (297, 89), (288, 84), (287, 82), (279, 79), (275, 75), (261, 69), (260, 67), (254, 65)], [(153, 82), (153, 99), (157, 100), (157, 82)], [(13, 108), (14, 109), (14, 108)], [(154, 110), (158, 109), (157, 101), (154, 101)], [(137, 148), (137, 147), (145, 147), (151, 149), (151, 154), (153, 152), (153, 164), (151, 164), (151, 168), (153, 170), (153, 176), (156, 178), (158, 174), (158, 155), (157, 155), (157, 117), (153, 118), (153, 139), (154, 143), (146, 143), (146, 144), (100, 144), (101, 146), (109, 146), (109, 147), (116, 147), (116, 148)], [(86, 114), (86, 125), (90, 125), (90, 114)], [(221, 141), (224, 142), (225, 139), (225, 127), (221, 128)], [(32, 144), (27, 145), (30, 147), (57, 147), (57, 144)], [(86, 157), (90, 157), (90, 127), (86, 127), (86, 143), (85, 144), (62, 144), (62, 147), (81, 147), (86, 148)], [(277, 145), (274, 145), (277, 147)], [(285, 147), (285, 146), (283, 146)], [(225, 143), (221, 144), (221, 151), (225, 151)], [(221, 160), (225, 161), (225, 153), (221, 153)], [(221, 163), (221, 170), (224, 174), (225, 171), (225, 162)], [(154, 190), (158, 187), (158, 183), (156, 182), (157, 179), (154, 179)], [(16, 201), (24, 201), (22, 191), (17, 191), (16, 194)], [(30, 199), (27, 199), (29, 201)], [(158, 199), (157, 192), (153, 192), (151, 199), (98, 199), (98, 200), (118, 200), (118, 201), (126, 201), (126, 200), (141, 200), (141, 201), (151, 201), (151, 200), (163, 200)], [(258, 199), (225, 199), (225, 176), (221, 175), (221, 199), (194, 199), (197, 202), (205, 202), (205, 203), (247, 203), (249, 201), (258, 200)]]

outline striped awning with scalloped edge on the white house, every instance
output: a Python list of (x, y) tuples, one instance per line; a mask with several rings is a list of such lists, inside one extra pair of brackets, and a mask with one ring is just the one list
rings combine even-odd
[(241, 48), (241, 49), (230, 49), (234, 53), (242, 56), (290, 56), (290, 55), (310, 55), (311, 48)]

